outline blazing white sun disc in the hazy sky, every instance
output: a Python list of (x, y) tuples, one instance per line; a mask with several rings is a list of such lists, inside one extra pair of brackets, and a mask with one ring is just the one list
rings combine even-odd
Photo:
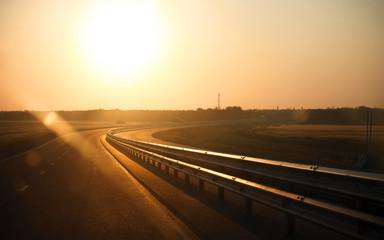
[(82, 55), (98, 73), (138, 74), (154, 64), (165, 40), (154, 1), (105, 1), (85, 15), (79, 32)]

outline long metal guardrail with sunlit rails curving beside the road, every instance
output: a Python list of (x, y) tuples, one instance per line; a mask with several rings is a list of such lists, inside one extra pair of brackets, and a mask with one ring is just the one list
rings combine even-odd
[[(123, 131), (126, 129), (109, 131), (107, 140), (147, 164), (157, 163), (160, 169), (164, 165), (167, 173), (169, 168), (174, 169), (175, 176), (179, 171), (183, 172), (186, 183), (189, 183), (190, 176), (198, 178), (200, 190), (204, 189), (204, 182), (218, 186), (219, 199), (224, 197), (224, 189), (244, 196), (247, 213), (252, 210), (252, 201), (284, 211), (288, 234), (294, 232), (295, 217), (300, 217), (358, 239), (384, 238), (384, 218), (375, 212), (384, 207), (382, 174), (181, 148), (115, 135)], [(257, 176), (256, 179), (262, 177), (261, 183), (176, 158), (191, 159), (202, 165), (217, 166), (217, 169), (234, 170), (246, 176)], [(282, 184), (265, 184), (269, 180)], [(309, 188), (317, 195), (299, 194), (300, 187)], [(327, 194), (333, 198), (349, 199), (353, 204), (342, 204), (345, 200), (324, 200), (322, 195)]]

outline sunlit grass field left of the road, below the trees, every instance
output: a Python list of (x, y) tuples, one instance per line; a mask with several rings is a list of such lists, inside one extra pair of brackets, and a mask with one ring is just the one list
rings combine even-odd
[(55, 122), (49, 128), (40, 121), (0, 121), (0, 159), (42, 145), (61, 134), (117, 126), (113, 122)]

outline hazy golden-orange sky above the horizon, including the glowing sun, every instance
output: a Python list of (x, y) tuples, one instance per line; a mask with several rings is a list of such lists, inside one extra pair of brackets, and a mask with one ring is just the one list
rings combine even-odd
[(383, 0), (124, 4), (0, 0), (0, 110), (384, 107)]

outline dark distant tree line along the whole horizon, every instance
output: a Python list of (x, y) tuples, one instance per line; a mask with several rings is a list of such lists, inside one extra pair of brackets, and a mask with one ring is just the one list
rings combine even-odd
[[(384, 109), (336, 108), (336, 109), (250, 109), (229, 106), (225, 109), (196, 110), (78, 110), (55, 111), (66, 121), (113, 121), (113, 122), (182, 122), (216, 121), (256, 118), (284, 118), (298, 124), (347, 124), (364, 125), (367, 111), (372, 110), (375, 125), (384, 125)], [(0, 111), (0, 121), (33, 121), (42, 119), (50, 111)]]

